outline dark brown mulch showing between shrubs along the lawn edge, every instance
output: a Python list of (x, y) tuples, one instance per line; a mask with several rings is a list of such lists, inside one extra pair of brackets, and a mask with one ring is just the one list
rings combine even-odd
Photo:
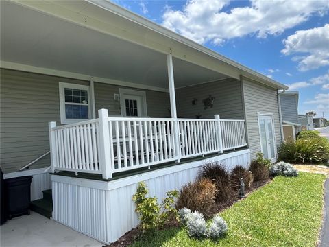
[[(260, 187), (263, 187), (263, 185), (266, 185), (266, 184), (270, 183), (271, 180), (272, 180), (272, 178), (268, 178), (267, 180), (261, 180), (261, 181), (257, 181), (257, 182), (252, 183), (252, 186), (249, 189), (246, 189), (246, 191), (245, 191), (246, 192), (246, 197), (249, 195), (249, 193), (252, 193), (252, 191), (254, 191), (255, 189), (258, 189)], [(218, 202), (215, 205), (215, 212), (219, 213), (219, 212), (223, 211), (224, 209), (227, 209), (227, 208), (231, 207), (232, 204), (234, 204), (235, 202), (237, 202), (239, 200), (243, 200), (243, 199), (235, 197), (232, 200), (229, 200), (228, 202)], [(170, 222), (169, 224), (166, 224), (166, 226), (164, 226), (164, 228), (171, 228), (171, 227), (174, 227), (174, 226), (176, 226), (176, 227), (179, 226), (178, 222)], [(136, 228), (128, 231), (127, 233), (125, 233), (125, 235), (120, 237), (116, 242), (113, 242), (110, 245), (103, 246), (103, 247), (125, 247), (125, 246), (129, 246), (135, 240), (141, 239), (141, 237), (143, 237), (143, 231), (141, 230), (141, 228), (136, 227)]]

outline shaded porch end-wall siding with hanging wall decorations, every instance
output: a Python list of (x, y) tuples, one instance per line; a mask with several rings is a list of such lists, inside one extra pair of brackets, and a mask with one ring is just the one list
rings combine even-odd
[[(203, 99), (215, 97), (212, 108), (204, 109)], [(195, 105), (193, 99), (197, 99)], [(184, 118), (214, 118), (219, 114), (221, 119), (243, 119), (241, 83), (239, 80), (227, 79), (209, 82), (176, 90), (178, 116)]]

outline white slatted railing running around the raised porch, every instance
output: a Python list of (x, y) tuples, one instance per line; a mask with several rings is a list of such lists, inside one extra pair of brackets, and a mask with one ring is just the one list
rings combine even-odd
[(219, 115), (215, 119), (113, 118), (104, 109), (99, 110), (99, 119), (57, 127), (49, 123), (49, 139), (53, 172), (88, 172), (103, 178), (247, 145), (244, 120), (219, 119)]

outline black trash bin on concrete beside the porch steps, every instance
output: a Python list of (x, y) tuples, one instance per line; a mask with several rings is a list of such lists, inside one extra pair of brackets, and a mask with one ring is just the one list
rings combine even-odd
[(32, 176), (5, 179), (5, 199), (8, 219), (19, 215), (29, 215)]

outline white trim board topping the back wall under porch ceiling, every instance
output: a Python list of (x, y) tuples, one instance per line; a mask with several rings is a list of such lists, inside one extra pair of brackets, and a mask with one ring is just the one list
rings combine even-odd
[(76, 80), (84, 80), (90, 82), (90, 80), (93, 80), (93, 82), (100, 82), (105, 84), (112, 84), (117, 86), (127, 86), (134, 89), (146, 89), (151, 91), (160, 91), (164, 93), (169, 93), (169, 89), (160, 88), (158, 86), (149, 86), (145, 84), (138, 84), (138, 83), (132, 83), (132, 82), (124, 82), (121, 80), (113, 80), (109, 78), (99, 78), (97, 76), (93, 75), (86, 75), (82, 73), (73, 73), (68, 71), (60, 71), (56, 69), (48, 69), (43, 67), (35, 67), (27, 64), (19, 64), (16, 62), (7, 62), (7, 61), (0, 61), (0, 68), (2, 69), (13, 69), (17, 71), (25, 71), (25, 72), (31, 72), (31, 73), (40, 73), (43, 75), (53, 75), (58, 76), (62, 78), (71, 78)]

